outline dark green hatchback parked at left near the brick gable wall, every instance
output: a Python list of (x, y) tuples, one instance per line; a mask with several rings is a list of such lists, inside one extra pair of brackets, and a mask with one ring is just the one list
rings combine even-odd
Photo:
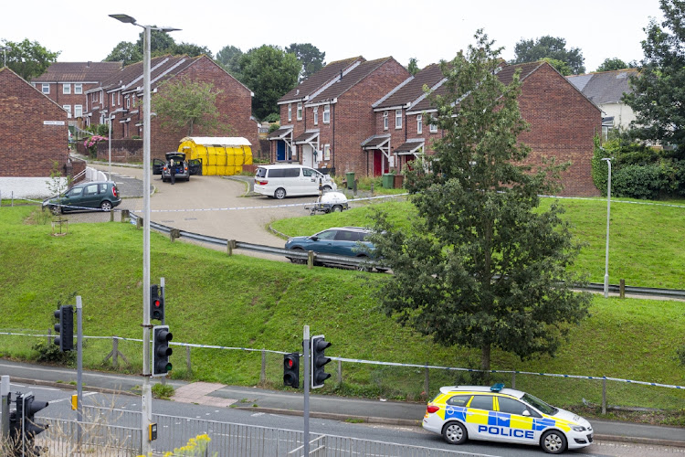
[(71, 186), (57, 197), (47, 198), (43, 201), (43, 207), (47, 207), (52, 214), (58, 215), (66, 211), (94, 208), (110, 211), (120, 203), (121, 194), (114, 182), (90, 181)]

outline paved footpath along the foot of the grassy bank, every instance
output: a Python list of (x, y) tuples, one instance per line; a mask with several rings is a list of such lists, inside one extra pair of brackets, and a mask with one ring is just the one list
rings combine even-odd
[[(0, 375), (12, 382), (53, 388), (76, 389), (68, 384), (76, 380), (76, 370), (63, 367), (30, 365), (0, 360)], [(84, 391), (136, 395), (141, 377), (84, 371)], [(170, 379), (173, 401), (217, 407), (248, 409), (273, 414), (302, 415), (301, 392), (225, 386), (222, 384)], [(368, 423), (420, 427), (426, 412), (425, 403), (386, 401), (385, 399), (352, 399), (331, 395), (310, 395), (310, 415), (330, 420), (362, 420)], [(654, 426), (617, 420), (591, 420), (595, 439), (623, 441), (685, 448), (685, 428)]]

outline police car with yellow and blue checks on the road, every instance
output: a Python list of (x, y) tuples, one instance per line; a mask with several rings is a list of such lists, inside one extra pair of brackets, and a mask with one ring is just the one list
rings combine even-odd
[(423, 428), (440, 433), (450, 444), (468, 439), (515, 442), (540, 445), (552, 454), (593, 441), (587, 420), (504, 384), (440, 388), (428, 402)]

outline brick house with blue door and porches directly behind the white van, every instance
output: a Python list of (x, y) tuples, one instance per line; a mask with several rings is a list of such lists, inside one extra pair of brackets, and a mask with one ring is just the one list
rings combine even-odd
[(271, 161), (368, 174), (371, 164), (360, 144), (374, 133), (371, 102), (408, 75), (395, 58), (328, 64), (279, 99), (280, 128), (269, 135)]

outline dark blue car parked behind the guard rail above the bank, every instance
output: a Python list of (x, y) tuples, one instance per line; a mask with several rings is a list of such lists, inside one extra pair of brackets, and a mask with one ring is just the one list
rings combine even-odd
[[(370, 259), (374, 257), (374, 244), (367, 240), (370, 233), (369, 230), (361, 227), (333, 227), (315, 233), (311, 237), (292, 237), (286, 242), (285, 249), (300, 252), (313, 250), (320, 254)], [(293, 263), (306, 262), (297, 257), (286, 257)], [(325, 264), (325, 262), (317, 263)], [(367, 270), (369, 267), (361, 265), (358, 268)], [(387, 269), (376, 267), (376, 271), (387, 271)]]

